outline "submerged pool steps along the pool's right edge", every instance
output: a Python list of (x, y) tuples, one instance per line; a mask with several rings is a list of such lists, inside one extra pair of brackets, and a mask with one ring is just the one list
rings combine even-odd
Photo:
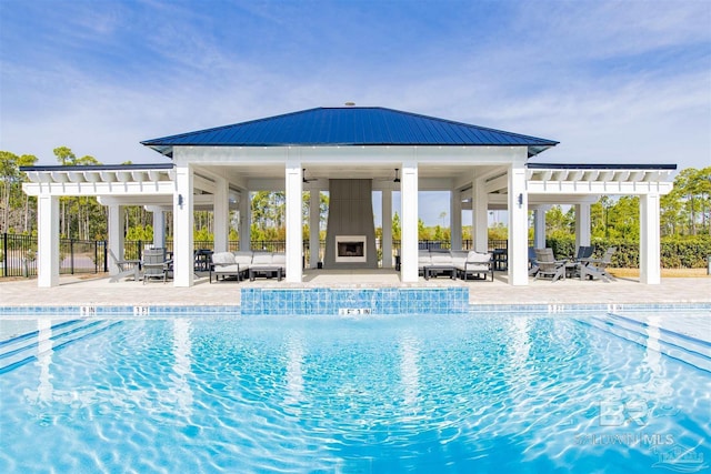
[(653, 337), (659, 344), (654, 349), (662, 354), (711, 372), (711, 344), (705, 341), (614, 313), (591, 316), (583, 322), (644, 347), (650, 346), (650, 339)]

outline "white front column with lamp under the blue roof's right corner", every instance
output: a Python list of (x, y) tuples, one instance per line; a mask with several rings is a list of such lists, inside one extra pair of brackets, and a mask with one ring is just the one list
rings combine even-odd
[(525, 190), (525, 152), (509, 167), (509, 284), (529, 284), (529, 198)]

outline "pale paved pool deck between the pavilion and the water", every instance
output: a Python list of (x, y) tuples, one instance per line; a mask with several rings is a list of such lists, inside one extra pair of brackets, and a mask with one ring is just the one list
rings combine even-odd
[(645, 285), (637, 279), (614, 282), (568, 279), (529, 281), (528, 286), (511, 286), (505, 273), (495, 273), (494, 281), (469, 281), (437, 278), (418, 283), (401, 283), (399, 274), (389, 270), (337, 271), (307, 270), (302, 283), (258, 279), (254, 282), (220, 281), (209, 283), (200, 274), (191, 288), (174, 288), (169, 281), (109, 283), (106, 275), (67, 275), (60, 285), (37, 286), (36, 279), (2, 281), (0, 306), (43, 305), (239, 305), (242, 288), (469, 288), (471, 304), (654, 304), (711, 303), (711, 276), (664, 278), (659, 285)]

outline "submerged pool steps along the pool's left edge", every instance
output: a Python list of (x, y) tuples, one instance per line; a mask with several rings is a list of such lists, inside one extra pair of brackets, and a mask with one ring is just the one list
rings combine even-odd
[(37, 360), (40, 351), (57, 351), (67, 344), (82, 337), (97, 334), (114, 324), (117, 321), (69, 320), (48, 326), (47, 337), (42, 331), (30, 331), (0, 341), (0, 373), (9, 372)]

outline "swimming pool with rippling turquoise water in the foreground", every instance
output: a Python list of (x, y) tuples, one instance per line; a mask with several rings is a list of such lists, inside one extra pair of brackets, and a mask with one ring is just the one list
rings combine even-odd
[(605, 314), (3, 324), (4, 473), (709, 468), (708, 344)]

